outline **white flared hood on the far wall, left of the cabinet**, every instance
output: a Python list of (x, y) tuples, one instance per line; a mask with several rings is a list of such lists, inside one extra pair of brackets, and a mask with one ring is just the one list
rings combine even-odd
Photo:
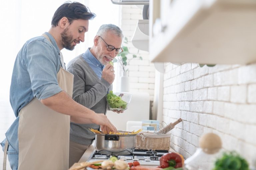
[(149, 26), (148, 20), (138, 20), (137, 27), (132, 37), (132, 44), (134, 47), (148, 51), (148, 39), (149, 39)]

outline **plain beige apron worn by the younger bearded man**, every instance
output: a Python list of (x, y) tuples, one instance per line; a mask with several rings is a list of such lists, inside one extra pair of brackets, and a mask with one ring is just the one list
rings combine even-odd
[[(73, 77), (62, 67), (57, 73), (60, 88), (70, 97)], [(55, 112), (34, 98), (21, 109), (19, 117), (18, 170), (67, 170), (70, 116)]]

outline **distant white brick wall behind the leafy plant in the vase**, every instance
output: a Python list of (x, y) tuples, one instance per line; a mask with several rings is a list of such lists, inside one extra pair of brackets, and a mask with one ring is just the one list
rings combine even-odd
[[(142, 56), (143, 60), (133, 59), (130, 61), (129, 66), (129, 80), (130, 80), (130, 91), (141, 91), (148, 92), (150, 100), (154, 99), (154, 83), (155, 83), (155, 67), (149, 61), (149, 53), (135, 48), (130, 42), (137, 26), (138, 20), (142, 19), (142, 9), (135, 5), (122, 5), (122, 17), (121, 17), (121, 29), (123, 34), (128, 38), (129, 51)], [(187, 70), (191, 68), (184, 66), (183, 69)]]

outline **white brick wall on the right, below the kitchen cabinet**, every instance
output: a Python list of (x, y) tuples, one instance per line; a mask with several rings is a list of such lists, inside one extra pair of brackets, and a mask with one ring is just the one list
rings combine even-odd
[(200, 137), (220, 135), (223, 149), (236, 150), (251, 165), (256, 157), (256, 64), (199, 67), (166, 63), (164, 122), (180, 118), (171, 147), (191, 156)]

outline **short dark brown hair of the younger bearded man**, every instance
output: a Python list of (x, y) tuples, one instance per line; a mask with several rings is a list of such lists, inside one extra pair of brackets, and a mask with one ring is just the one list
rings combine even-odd
[(95, 16), (85, 5), (79, 2), (67, 1), (55, 11), (52, 17), (52, 27), (56, 27), (63, 17), (67, 17), (71, 24), (73, 20), (92, 20)]

